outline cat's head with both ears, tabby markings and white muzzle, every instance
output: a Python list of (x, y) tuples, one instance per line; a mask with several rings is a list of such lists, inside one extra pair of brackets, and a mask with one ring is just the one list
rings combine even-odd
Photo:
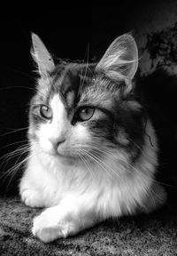
[(143, 115), (132, 84), (138, 66), (135, 39), (119, 36), (97, 64), (59, 65), (38, 36), (32, 41), (40, 78), (30, 105), (31, 143), (51, 156), (85, 163), (112, 150), (138, 156)]

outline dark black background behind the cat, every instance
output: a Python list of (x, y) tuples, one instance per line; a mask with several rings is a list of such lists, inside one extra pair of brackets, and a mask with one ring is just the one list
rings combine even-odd
[[(1, 193), (15, 193), (22, 172), (21, 168), (12, 172), (11, 168), (19, 163), (24, 155), (16, 156), (10, 152), (27, 143), (25, 141), (27, 109), (29, 99), (34, 93), (36, 78), (34, 62), (30, 55), (31, 32), (42, 38), (54, 57), (87, 61), (99, 60), (114, 38), (131, 31), (141, 56), (149, 54), (148, 58), (142, 58), (137, 79), (140, 84), (144, 84), (151, 115), (160, 131), (160, 139), (165, 141), (162, 145), (165, 152), (161, 156), (161, 158), (165, 157), (162, 165), (170, 163), (172, 177), (175, 176), (176, 167), (173, 162), (177, 156), (176, 78), (175, 76), (169, 78), (164, 73), (149, 77), (149, 73), (153, 73), (154, 67), (169, 68), (177, 63), (177, 58), (173, 60), (176, 54), (176, 44), (173, 41), (177, 38), (177, 29), (173, 20), (175, 15), (172, 13), (172, 10), (177, 10), (177, 1), (152, 3), (126, 0), (117, 1), (117, 4), (108, 4), (99, 6), (91, 2), (67, 3), (65, 6), (60, 4), (50, 6), (50, 3), (46, 6), (45, 4), (42, 6), (9, 4), (1, 9)], [(164, 10), (164, 6), (169, 10)], [(166, 13), (169, 15), (166, 16)], [(164, 42), (167, 36), (169, 40)], [(168, 45), (171, 45), (170, 50)], [(169, 59), (167, 64), (166, 56)], [(11, 155), (6, 155), (9, 153)], [(168, 170), (166, 165), (165, 170)]]

